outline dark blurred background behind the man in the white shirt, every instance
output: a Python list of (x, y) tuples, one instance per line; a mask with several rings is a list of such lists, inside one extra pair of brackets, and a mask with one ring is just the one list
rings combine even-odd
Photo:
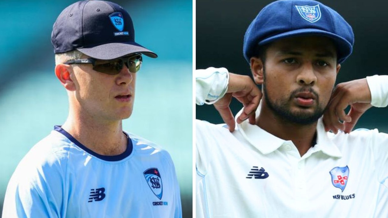
[[(244, 34), (258, 12), (271, 0), (196, 0), (196, 69), (226, 67), (251, 76), (242, 55)], [(355, 34), (353, 54), (342, 64), (337, 83), (375, 74), (388, 75), (388, 2), (383, 0), (321, 0), (341, 14)], [(232, 102), (232, 112), (242, 108)], [(223, 123), (213, 106), (196, 106), (196, 118)], [(371, 108), (355, 128), (388, 132), (388, 108)]]

